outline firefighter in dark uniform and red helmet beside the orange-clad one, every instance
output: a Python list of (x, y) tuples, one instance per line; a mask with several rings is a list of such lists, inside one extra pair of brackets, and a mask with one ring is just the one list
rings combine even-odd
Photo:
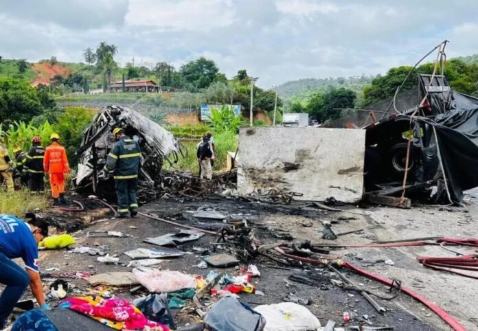
[(32, 148), (27, 154), (25, 165), (30, 173), (28, 187), (31, 192), (41, 192), (45, 190), (45, 172), (43, 169), (43, 159), (45, 158), (45, 148), (41, 146), (40, 137), (34, 137)]

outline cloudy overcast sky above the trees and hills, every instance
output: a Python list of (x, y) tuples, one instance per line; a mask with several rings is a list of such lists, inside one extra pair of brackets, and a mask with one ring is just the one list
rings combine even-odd
[(79, 62), (106, 41), (122, 65), (206, 56), (269, 88), (384, 73), (444, 39), (448, 58), (478, 53), (477, 13), (477, 0), (0, 0), (0, 56)]

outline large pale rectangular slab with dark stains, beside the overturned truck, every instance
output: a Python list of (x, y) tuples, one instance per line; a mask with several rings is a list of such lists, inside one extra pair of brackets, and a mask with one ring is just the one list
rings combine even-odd
[(298, 192), (298, 200), (361, 199), (365, 130), (241, 128), (238, 191)]

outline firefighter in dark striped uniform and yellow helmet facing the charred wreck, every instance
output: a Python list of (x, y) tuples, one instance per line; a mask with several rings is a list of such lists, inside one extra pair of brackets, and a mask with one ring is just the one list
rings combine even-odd
[(103, 168), (104, 178), (108, 178), (109, 172), (113, 172), (118, 198), (118, 217), (128, 218), (129, 213), (131, 217), (135, 217), (138, 214), (136, 190), (141, 166), (141, 149), (137, 141), (124, 134), (122, 128), (115, 128), (113, 137), (117, 142), (106, 159)]

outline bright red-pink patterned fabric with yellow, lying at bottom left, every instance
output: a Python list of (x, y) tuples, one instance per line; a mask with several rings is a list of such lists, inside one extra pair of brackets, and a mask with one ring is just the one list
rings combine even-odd
[[(98, 301), (98, 297), (95, 298)], [(168, 331), (167, 326), (153, 322), (139, 311), (135, 306), (123, 299), (101, 299), (98, 304), (79, 297), (71, 297), (62, 301), (69, 309), (80, 312), (83, 315), (109, 319), (111, 321), (124, 322), (123, 330), (144, 330), (146, 326), (154, 330)]]

